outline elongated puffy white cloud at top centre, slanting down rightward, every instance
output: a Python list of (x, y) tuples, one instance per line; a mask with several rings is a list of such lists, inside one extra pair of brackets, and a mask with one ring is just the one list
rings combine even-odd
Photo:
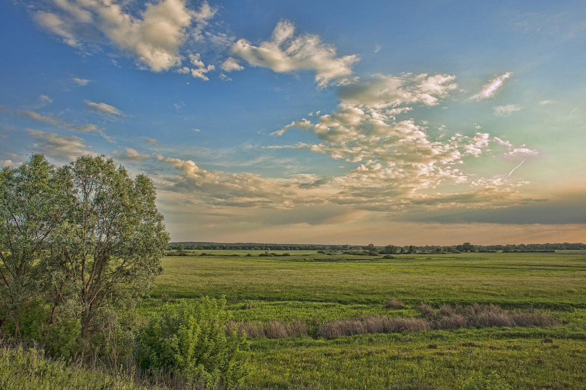
[(295, 26), (287, 20), (277, 23), (270, 41), (254, 46), (240, 39), (231, 52), (252, 66), (260, 66), (278, 73), (298, 70), (315, 71), (315, 81), (320, 87), (336, 81), (346, 83), (352, 74), (352, 66), (358, 57), (336, 56), (336, 48), (321, 42), (316, 35), (295, 36)]

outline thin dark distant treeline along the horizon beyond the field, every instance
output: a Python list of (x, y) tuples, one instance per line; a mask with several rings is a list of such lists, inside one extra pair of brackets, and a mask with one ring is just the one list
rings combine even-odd
[[(586, 244), (563, 242), (561, 244), (519, 244), (519, 245), (471, 245), (465, 242), (461, 245), (425, 245), (417, 247), (416, 245), (406, 245), (404, 247), (387, 245), (386, 247), (377, 247), (376, 245), (316, 245), (316, 244), (258, 244), (254, 242), (171, 242), (169, 250), (195, 250), (195, 251), (222, 251), (222, 250), (241, 250), (241, 251), (376, 251), (383, 254), (388, 252), (390, 247), (397, 248), (395, 252), (413, 252), (413, 248), (419, 252), (541, 252), (541, 251), (563, 251), (564, 249), (586, 249)], [(393, 249), (394, 249), (393, 248)], [(403, 249), (403, 251), (401, 251)]]

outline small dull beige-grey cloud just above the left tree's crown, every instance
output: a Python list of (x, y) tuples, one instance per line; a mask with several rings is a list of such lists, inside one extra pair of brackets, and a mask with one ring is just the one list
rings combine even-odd
[(84, 139), (75, 135), (59, 135), (40, 130), (27, 130), (30, 136), (35, 139), (33, 148), (45, 153), (46, 156), (58, 161), (72, 161), (78, 156), (93, 155), (95, 153), (87, 149)]

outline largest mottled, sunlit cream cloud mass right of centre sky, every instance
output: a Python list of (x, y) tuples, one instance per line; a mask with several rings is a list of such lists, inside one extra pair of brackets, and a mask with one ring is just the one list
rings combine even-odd
[[(513, 182), (501, 173), (499, 179), (475, 177), (464, 170), (466, 157), (494, 156), (502, 146), (505, 159), (526, 158), (536, 150), (516, 146), (488, 133), (455, 134), (432, 139), (427, 121), (397, 120), (408, 104), (437, 105), (456, 88), (454, 76), (377, 76), (363, 84), (340, 88), (342, 100), (330, 114), (300, 119), (272, 132), (280, 136), (291, 129), (311, 132), (316, 143), (274, 145), (273, 148), (308, 149), (335, 159), (359, 163), (345, 176), (319, 179), (305, 186), (335, 190), (328, 199), (336, 204), (360, 204), (368, 210), (400, 209), (412, 201), (430, 207), (469, 199), (470, 204), (517, 196)], [(313, 117), (311, 117), (313, 118)], [(445, 139), (444, 139), (445, 138)], [(496, 148), (499, 149), (499, 148)], [(452, 182), (461, 191), (435, 193), (440, 184)], [(434, 206), (435, 205), (435, 206)]]

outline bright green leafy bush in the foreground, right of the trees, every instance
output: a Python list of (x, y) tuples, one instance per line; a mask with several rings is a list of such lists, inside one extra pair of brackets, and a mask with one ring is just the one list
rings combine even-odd
[(137, 358), (144, 370), (185, 373), (208, 389), (235, 388), (250, 372), (246, 333), (226, 331), (226, 299), (182, 302), (152, 317), (137, 336)]

